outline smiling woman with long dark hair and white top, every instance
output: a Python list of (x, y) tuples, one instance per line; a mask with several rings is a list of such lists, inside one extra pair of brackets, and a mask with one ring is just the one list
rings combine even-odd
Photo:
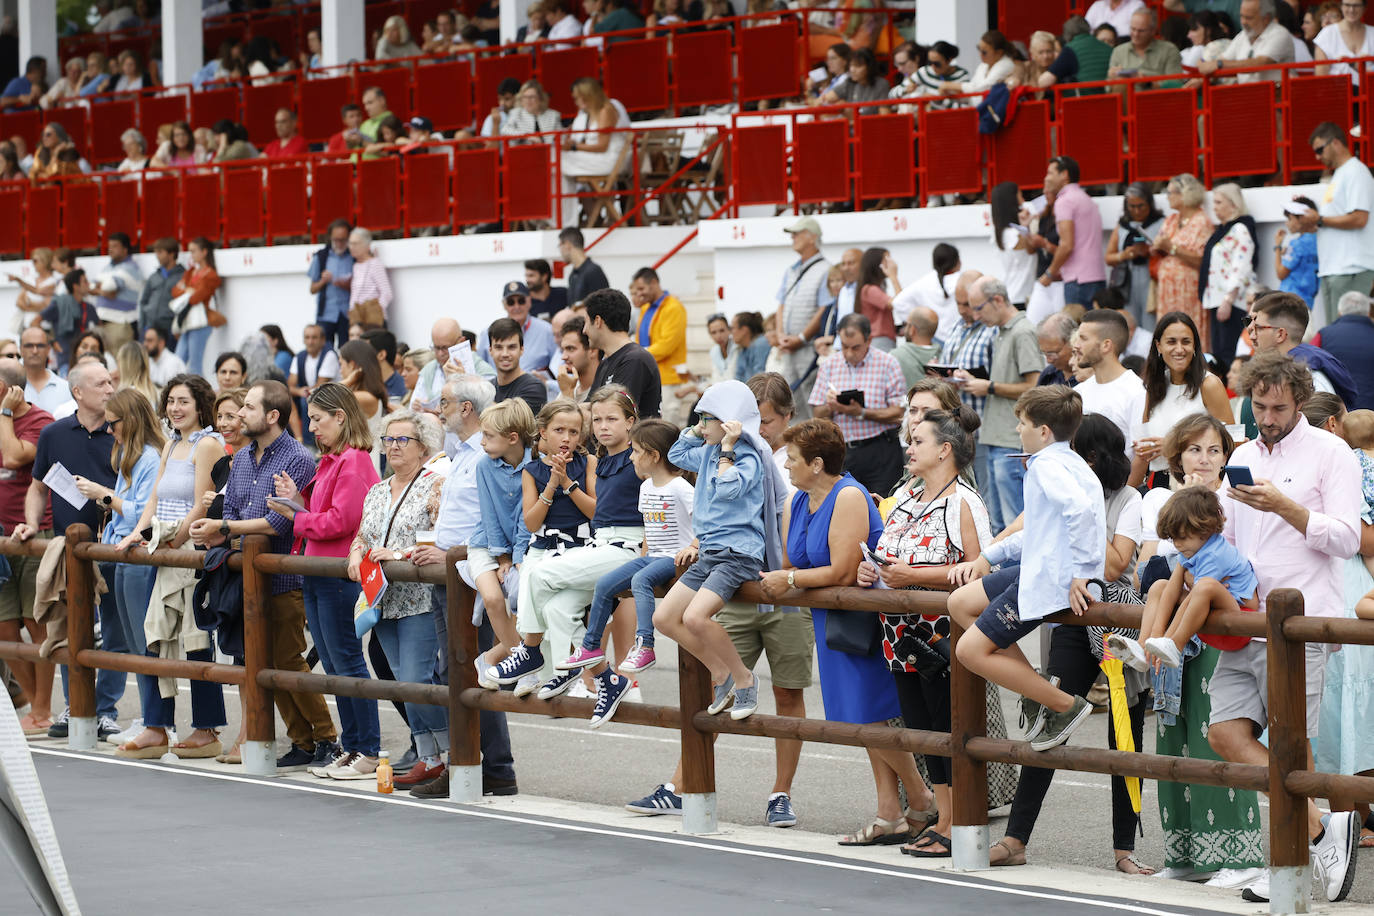
[(1149, 489), (1169, 485), (1164, 437), (1173, 424), (1193, 413), (1210, 413), (1230, 424), (1231, 402), (1226, 385), (1206, 371), (1198, 328), (1183, 312), (1160, 319), (1145, 358), (1145, 416), (1131, 427), (1131, 485)]

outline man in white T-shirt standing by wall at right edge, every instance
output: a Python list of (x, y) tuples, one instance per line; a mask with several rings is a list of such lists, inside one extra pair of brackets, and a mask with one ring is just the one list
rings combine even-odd
[(1369, 295), (1374, 287), (1374, 176), (1359, 161), (1345, 130), (1323, 121), (1308, 137), (1312, 152), (1331, 170), (1316, 211), (1303, 217), (1303, 231), (1316, 232), (1316, 275), (1322, 284), (1326, 320), (1336, 320), (1336, 304), (1347, 293)]

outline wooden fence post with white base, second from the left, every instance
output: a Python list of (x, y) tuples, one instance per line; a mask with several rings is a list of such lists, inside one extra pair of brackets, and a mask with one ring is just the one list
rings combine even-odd
[(268, 547), (267, 536), (243, 538), (243, 729), (247, 740), (239, 748), (243, 772), (276, 776), (276, 710), (272, 688), (258, 684), (257, 676), (272, 666), (272, 621), (268, 619), (268, 575), (254, 566)]

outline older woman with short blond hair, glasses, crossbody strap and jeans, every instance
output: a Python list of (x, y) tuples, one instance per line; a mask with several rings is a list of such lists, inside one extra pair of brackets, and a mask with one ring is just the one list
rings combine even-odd
[[(444, 431), (427, 413), (397, 411), (382, 430), (386, 461), (393, 474), (367, 492), (363, 520), (349, 548), (348, 575), (361, 582), (363, 558), (400, 560), (415, 549), (419, 531), (433, 531), (438, 519), (444, 478), (425, 470), (431, 455), (444, 448)], [(430, 608), (431, 586), (423, 582), (392, 582), (382, 595), (376, 639), (396, 680), (427, 684), (434, 670), (438, 640)], [(420, 759), (398, 786), (418, 786), (444, 773), (440, 754), (448, 750), (448, 714), (438, 706), (407, 703), (415, 750)]]

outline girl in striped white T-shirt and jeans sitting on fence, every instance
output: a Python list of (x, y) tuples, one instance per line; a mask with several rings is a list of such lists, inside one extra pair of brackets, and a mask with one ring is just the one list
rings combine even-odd
[(654, 666), (654, 589), (673, 581), (677, 570), (695, 558), (691, 515), (694, 492), (668, 450), (677, 441), (677, 427), (668, 420), (640, 420), (629, 433), (639, 511), (644, 519), (644, 549), (635, 559), (606, 573), (596, 582), (587, 636), (581, 647), (555, 667), (589, 669), (596, 678), (596, 709), (591, 725), (609, 722), (629, 689), (631, 680), (611, 672), (602, 650), (602, 633), (610, 623), (616, 596), (627, 588), (635, 595), (635, 648), (620, 663), (621, 674), (635, 676)]

